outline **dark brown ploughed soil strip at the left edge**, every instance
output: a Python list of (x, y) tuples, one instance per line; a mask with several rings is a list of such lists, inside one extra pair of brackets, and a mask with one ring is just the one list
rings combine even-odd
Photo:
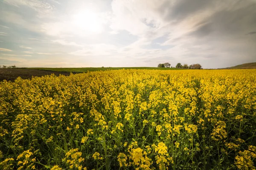
[(0, 82), (4, 79), (7, 81), (14, 82), (17, 77), (21, 77), (22, 79), (31, 79), (32, 76), (34, 77), (42, 77), (45, 75), (50, 74), (63, 74), (69, 76), (70, 73), (64, 72), (54, 72), (54, 71), (39, 71), (39, 70), (29, 70), (29, 69), (17, 69), (17, 68), (0, 68)]

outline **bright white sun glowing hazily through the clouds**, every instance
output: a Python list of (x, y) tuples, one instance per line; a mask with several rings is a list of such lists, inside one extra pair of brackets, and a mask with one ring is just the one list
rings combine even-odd
[(73, 26), (81, 31), (100, 33), (103, 29), (99, 14), (90, 10), (79, 11), (73, 15)]

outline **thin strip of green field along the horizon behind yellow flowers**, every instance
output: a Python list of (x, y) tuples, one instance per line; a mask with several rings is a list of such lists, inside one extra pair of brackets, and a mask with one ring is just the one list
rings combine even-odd
[(86, 73), (87, 71), (106, 71), (106, 70), (121, 70), (121, 69), (146, 69), (146, 70), (181, 70), (182, 68), (157, 68), (157, 67), (87, 67), (87, 68), (23, 68), (42, 71), (58, 71), (72, 73)]

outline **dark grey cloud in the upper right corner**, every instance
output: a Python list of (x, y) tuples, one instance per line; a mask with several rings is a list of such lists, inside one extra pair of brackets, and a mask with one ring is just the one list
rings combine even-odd
[(213, 33), (236, 36), (256, 27), (256, 1), (253, 0), (165, 0), (157, 12), (172, 26), (197, 16), (191, 35), (198, 37)]

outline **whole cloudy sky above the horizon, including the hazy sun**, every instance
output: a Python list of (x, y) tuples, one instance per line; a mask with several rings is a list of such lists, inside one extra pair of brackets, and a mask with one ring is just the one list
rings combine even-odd
[(0, 65), (256, 62), (256, 0), (0, 0)]

